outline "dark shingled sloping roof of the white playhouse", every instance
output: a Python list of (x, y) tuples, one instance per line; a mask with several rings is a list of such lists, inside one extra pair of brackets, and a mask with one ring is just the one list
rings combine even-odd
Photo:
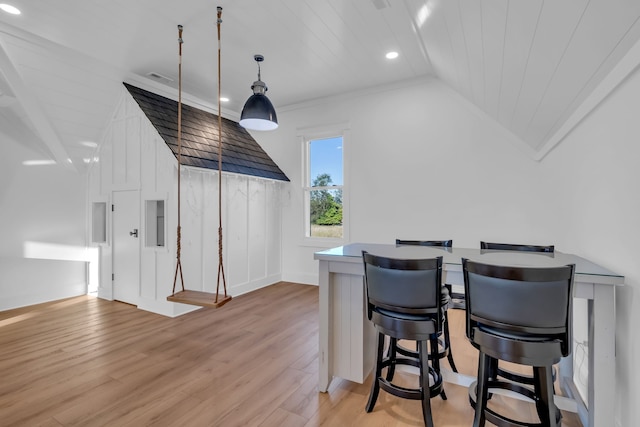
[[(178, 103), (124, 85), (177, 158)], [(222, 122), (223, 171), (289, 181), (245, 128), (225, 118)], [(182, 104), (182, 164), (218, 170), (217, 115)]]

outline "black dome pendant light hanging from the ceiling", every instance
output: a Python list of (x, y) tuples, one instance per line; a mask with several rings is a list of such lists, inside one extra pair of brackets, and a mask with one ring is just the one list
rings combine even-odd
[(267, 85), (260, 80), (260, 63), (264, 61), (264, 56), (255, 55), (253, 59), (258, 63), (258, 80), (253, 82), (253, 95), (242, 108), (240, 126), (250, 130), (274, 130), (278, 127), (276, 110), (265, 95)]

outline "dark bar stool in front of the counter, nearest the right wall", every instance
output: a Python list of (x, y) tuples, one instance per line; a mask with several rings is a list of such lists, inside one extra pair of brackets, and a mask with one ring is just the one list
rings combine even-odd
[[(574, 265), (496, 266), (462, 259), (466, 335), (479, 352), (478, 379), (469, 386), (474, 427), (557, 426), (553, 365), (571, 353)], [(498, 360), (533, 366), (533, 389), (497, 379)], [(523, 423), (487, 408), (489, 389), (520, 393), (535, 402), (540, 423)]]

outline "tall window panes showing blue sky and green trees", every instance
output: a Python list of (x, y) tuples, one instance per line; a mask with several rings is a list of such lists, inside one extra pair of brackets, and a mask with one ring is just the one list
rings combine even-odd
[(345, 238), (342, 135), (306, 139), (305, 236)]

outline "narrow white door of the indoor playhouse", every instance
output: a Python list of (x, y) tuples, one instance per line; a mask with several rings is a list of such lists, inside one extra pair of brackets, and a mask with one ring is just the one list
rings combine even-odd
[(139, 191), (113, 192), (113, 299), (138, 305), (140, 295)]

